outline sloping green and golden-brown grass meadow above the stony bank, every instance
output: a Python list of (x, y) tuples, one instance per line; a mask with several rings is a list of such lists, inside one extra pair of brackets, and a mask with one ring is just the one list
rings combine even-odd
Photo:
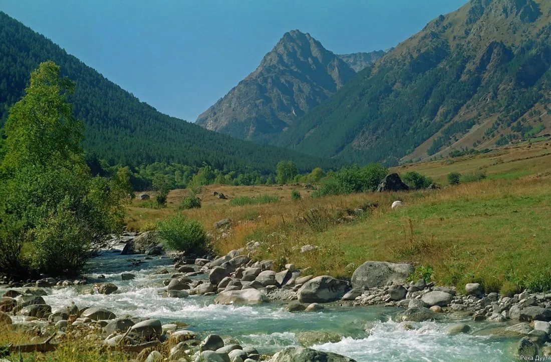
[[(551, 150), (546, 143), (392, 170), (430, 175), (441, 183), (440, 190), (310, 198), (296, 186), (212, 186), (199, 195), (201, 209), (183, 213), (201, 220), (220, 253), (258, 241), (258, 257), (309, 267), (312, 274), (350, 277), (364, 261), (381, 260), (430, 266), (436, 282), (458, 287), (477, 281), (505, 293), (521, 287), (551, 288), (551, 225), (546, 222), (551, 212)], [(448, 172), (477, 170), (485, 170), (488, 178), (446, 185)], [(302, 194), (300, 201), (290, 198), (294, 188)], [(231, 201), (213, 197), (213, 191), (230, 199), (271, 195), (280, 201), (231, 206)], [(134, 201), (129, 228), (152, 227), (152, 221), (175, 213), (185, 193), (171, 192), (169, 208), (163, 210), (141, 208), (141, 202)], [(396, 200), (405, 206), (393, 211), (390, 206)], [(355, 208), (368, 212), (349, 220)], [(215, 229), (214, 222), (223, 218), (232, 220), (231, 228)], [(301, 253), (307, 244), (320, 250)]]

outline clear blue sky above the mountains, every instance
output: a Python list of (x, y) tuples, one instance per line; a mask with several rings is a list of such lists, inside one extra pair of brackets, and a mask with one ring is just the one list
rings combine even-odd
[(291, 29), (386, 49), (467, 0), (0, 0), (0, 10), (171, 116), (195, 122)]

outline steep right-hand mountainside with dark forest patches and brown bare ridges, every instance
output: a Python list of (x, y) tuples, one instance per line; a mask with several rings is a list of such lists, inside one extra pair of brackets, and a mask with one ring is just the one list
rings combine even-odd
[(550, 66), (551, 1), (472, 0), (359, 72), (275, 144), (396, 164), (549, 132)]

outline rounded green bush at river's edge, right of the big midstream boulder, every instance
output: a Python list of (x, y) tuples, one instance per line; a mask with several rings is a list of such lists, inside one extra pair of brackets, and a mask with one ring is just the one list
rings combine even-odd
[(157, 224), (159, 239), (172, 250), (201, 251), (206, 248), (207, 235), (203, 225), (197, 220), (185, 218), (176, 214)]

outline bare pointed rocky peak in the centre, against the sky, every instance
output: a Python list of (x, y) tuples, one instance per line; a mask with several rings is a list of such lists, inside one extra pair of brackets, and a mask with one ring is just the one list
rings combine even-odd
[(264, 142), (316, 107), (354, 71), (310, 34), (285, 33), (248, 77), (197, 118), (230, 136)]

